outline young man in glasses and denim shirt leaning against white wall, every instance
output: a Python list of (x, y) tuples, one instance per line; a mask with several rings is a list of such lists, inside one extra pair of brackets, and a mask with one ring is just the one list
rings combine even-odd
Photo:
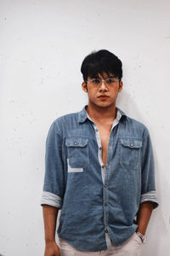
[(139, 256), (158, 207), (150, 134), (116, 107), (122, 90), (122, 61), (116, 55), (93, 52), (81, 72), (88, 105), (55, 119), (48, 131), (44, 255)]

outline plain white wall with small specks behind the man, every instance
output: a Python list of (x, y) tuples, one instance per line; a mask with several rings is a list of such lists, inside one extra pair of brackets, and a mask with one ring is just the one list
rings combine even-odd
[(94, 49), (123, 62), (117, 106), (150, 131), (160, 206), (143, 256), (170, 249), (170, 2), (0, 1), (0, 254), (43, 254), (40, 199), (52, 121), (88, 102), (80, 67)]

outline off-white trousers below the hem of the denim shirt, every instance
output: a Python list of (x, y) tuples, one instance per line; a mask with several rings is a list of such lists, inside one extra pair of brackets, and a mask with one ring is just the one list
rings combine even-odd
[(121, 246), (114, 247), (112, 245), (108, 250), (99, 252), (79, 251), (59, 238), (60, 256), (140, 256), (142, 245), (143, 242), (136, 232), (127, 241), (123, 242)]

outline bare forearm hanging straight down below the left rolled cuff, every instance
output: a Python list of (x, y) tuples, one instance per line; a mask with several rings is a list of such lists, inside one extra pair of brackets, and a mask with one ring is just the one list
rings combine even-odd
[(56, 221), (59, 208), (42, 205), (45, 241), (55, 241)]

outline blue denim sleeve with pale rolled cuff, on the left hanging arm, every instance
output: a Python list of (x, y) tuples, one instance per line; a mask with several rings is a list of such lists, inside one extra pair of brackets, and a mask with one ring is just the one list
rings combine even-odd
[(46, 139), (45, 175), (41, 206), (46, 204), (60, 209), (65, 193), (65, 176), (62, 160), (62, 137), (59, 135), (58, 126), (54, 121), (49, 128)]

